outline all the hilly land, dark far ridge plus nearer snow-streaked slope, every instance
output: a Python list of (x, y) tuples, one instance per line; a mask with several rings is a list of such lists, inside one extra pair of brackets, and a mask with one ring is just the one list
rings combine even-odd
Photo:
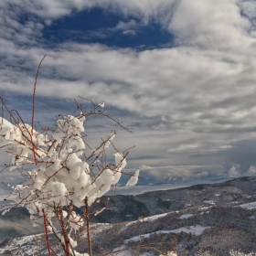
[[(255, 188), (255, 177), (247, 177), (228, 183), (155, 191), (136, 197), (112, 197), (112, 202), (118, 203), (103, 213), (101, 219), (109, 217), (115, 221), (118, 219), (132, 219), (132, 221), (92, 225), (93, 255), (104, 255), (124, 247), (128, 249), (137, 247), (137, 250), (130, 251), (130, 254), (125, 252), (126, 254), (111, 255), (159, 255), (144, 248), (144, 245), (150, 244), (162, 251), (176, 247), (178, 256), (254, 256), (256, 255), (253, 252), (256, 251)], [(180, 206), (178, 209), (176, 209), (177, 205)], [(138, 218), (140, 209), (141, 213), (144, 211), (148, 216)], [(151, 215), (154, 211), (162, 213)], [(134, 216), (137, 220), (133, 220)], [(80, 238), (80, 245), (76, 250), (87, 251), (84, 231), (80, 230), (77, 236)], [(5, 240), (0, 244), (0, 253), (47, 255), (47, 249), (40, 241), (41, 238), (43, 234), (37, 235), (37, 239), (29, 235)], [(58, 251), (58, 255), (61, 255), (59, 242), (52, 237), (50, 242)]]

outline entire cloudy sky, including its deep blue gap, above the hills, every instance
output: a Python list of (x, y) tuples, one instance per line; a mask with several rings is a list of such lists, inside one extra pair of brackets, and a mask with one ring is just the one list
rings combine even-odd
[[(134, 131), (116, 138), (121, 150), (135, 145), (128, 172), (256, 175), (255, 1), (9, 0), (0, 24), (0, 94), (27, 123), (47, 55), (37, 122), (73, 112), (79, 96), (105, 101)], [(86, 125), (91, 144), (116, 129)]]

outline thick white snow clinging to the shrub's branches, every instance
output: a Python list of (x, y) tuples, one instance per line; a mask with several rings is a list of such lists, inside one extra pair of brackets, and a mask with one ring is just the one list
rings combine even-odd
[[(100, 106), (103, 107), (104, 103)], [(26, 172), (27, 181), (16, 186), (12, 192), (15, 199), (10, 206), (25, 206), (35, 225), (43, 223), (43, 208), (48, 222), (52, 224), (52, 219), (59, 219), (58, 208), (65, 208), (70, 204), (80, 208), (84, 206), (85, 198), (90, 207), (96, 198), (108, 192), (122, 176), (126, 159), (119, 152), (114, 154), (115, 165), (101, 165), (99, 174), (93, 173), (91, 164), (87, 163), (84, 155), (85, 121), (82, 113), (78, 116), (63, 116), (57, 120), (55, 129), (38, 133), (26, 123), (13, 124), (4, 118), (0, 119), (0, 146), (6, 146), (6, 152), (12, 156), (9, 169), (32, 166), (32, 170)], [(97, 157), (112, 144), (114, 136), (115, 133), (110, 133), (91, 150), (91, 157), (95, 157), (94, 163), (99, 161)], [(130, 180), (129, 186), (136, 184), (137, 176), (138, 171)], [(82, 218), (75, 211), (69, 215), (64, 213), (63, 217), (69, 221), (70, 232), (83, 225)], [(54, 231), (53, 227), (49, 229)], [(64, 243), (63, 237), (59, 239)], [(70, 234), (69, 240), (75, 245)]]

